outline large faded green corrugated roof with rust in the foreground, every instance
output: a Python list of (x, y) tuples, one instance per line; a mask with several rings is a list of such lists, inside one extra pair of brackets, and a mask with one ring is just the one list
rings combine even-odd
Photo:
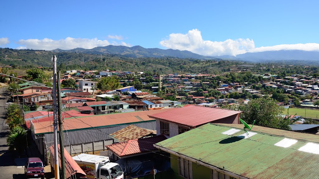
[[(298, 150), (308, 142), (278, 147), (274, 144), (285, 137), (256, 132), (242, 139), (237, 136), (245, 133), (243, 125), (227, 125), (206, 124), (156, 145), (246, 178), (319, 178), (319, 154)], [(222, 134), (232, 128), (240, 131)]]

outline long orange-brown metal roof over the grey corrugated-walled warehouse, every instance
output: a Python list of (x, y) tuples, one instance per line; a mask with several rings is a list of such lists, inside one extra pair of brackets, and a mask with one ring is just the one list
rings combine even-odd
[[(136, 112), (126, 112), (126, 113), (113, 113), (113, 114), (102, 114), (102, 115), (92, 115), (87, 117), (71, 117), (65, 118), (63, 123), (63, 129), (68, 131), (76, 131), (81, 129), (93, 129), (102, 128), (123, 124), (135, 124), (154, 121), (148, 115), (160, 113), (162, 111), (170, 111), (170, 109), (152, 110), (152, 111), (136, 111)], [(75, 116), (70, 114), (68, 111), (64, 111), (65, 115)], [(45, 121), (34, 123), (34, 133), (52, 133), (53, 132), (53, 121)]]

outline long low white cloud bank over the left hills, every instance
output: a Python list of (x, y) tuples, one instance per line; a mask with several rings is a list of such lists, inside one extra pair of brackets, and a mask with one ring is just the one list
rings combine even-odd
[(17, 44), (22, 45), (23, 47), (18, 48), (29, 48), (35, 50), (53, 50), (56, 48), (60, 48), (63, 50), (69, 50), (73, 48), (86, 48), (91, 49), (94, 47), (101, 47), (101, 46), (108, 46), (108, 45), (126, 45), (129, 46), (130, 44), (126, 44), (125, 42), (112, 42), (110, 43), (108, 40), (98, 40), (97, 38), (94, 39), (82, 39), (82, 38), (71, 38), (67, 37), (65, 39), (60, 40), (53, 40), (53, 39), (20, 39)]

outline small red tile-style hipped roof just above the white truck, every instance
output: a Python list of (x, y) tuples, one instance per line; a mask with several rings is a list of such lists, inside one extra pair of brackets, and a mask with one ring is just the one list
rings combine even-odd
[(154, 137), (147, 137), (144, 139), (134, 139), (128, 140), (126, 142), (120, 142), (116, 144), (111, 144), (107, 147), (110, 151), (116, 154), (120, 158), (129, 157), (129, 155), (134, 154), (144, 154), (145, 152), (150, 152), (150, 150), (157, 150), (153, 144), (160, 141), (166, 140), (167, 138), (161, 134)]

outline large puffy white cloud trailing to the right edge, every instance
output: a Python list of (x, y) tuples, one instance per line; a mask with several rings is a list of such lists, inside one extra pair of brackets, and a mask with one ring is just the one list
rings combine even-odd
[(188, 50), (196, 54), (212, 55), (237, 55), (246, 52), (264, 52), (276, 50), (305, 50), (319, 51), (319, 44), (284, 44), (270, 47), (257, 47), (251, 39), (227, 39), (225, 41), (203, 40), (201, 32), (197, 29), (188, 31), (187, 34), (171, 33), (168, 39), (162, 40), (159, 44), (163, 47)]

